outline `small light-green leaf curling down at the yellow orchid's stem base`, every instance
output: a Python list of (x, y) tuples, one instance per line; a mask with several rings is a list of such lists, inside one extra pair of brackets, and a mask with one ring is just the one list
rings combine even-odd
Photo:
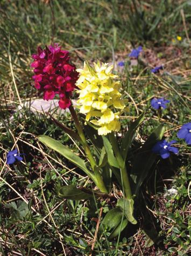
[(119, 206), (122, 211), (124, 210), (124, 214), (126, 218), (132, 224), (137, 224), (137, 220), (133, 217), (133, 199), (120, 198), (117, 202), (117, 206)]

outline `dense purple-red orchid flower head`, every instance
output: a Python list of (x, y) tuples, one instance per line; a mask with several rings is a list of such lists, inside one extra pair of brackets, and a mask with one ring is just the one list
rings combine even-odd
[(69, 62), (69, 52), (54, 44), (46, 46), (44, 50), (38, 47), (37, 54), (33, 54), (32, 58), (34, 86), (44, 91), (45, 100), (53, 99), (57, 94), (60, 96), (61, 109), (69, 107), (70, 96), (78, 79), (76, 66)]

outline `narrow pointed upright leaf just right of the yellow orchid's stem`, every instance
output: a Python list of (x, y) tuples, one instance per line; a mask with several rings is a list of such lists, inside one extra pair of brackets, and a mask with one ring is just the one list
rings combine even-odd
[(133, 138), (135, 137), (137, 128), (143, 122), (143, 120), (144, 120), (144, 113), (142, 113), (136, 119), (135, 122), (130, 124), (129, 130), (125, 133), (125, 137), (123, 138), (122, 146), (121, 146), (121, 152), (122, 152), (124, 161), (126, 160), (126, 157), (128, 155), (129, 147), (133, 141)]

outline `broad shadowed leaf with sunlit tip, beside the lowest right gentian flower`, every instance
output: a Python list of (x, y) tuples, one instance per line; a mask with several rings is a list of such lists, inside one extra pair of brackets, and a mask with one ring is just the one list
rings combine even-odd
[(157, 157), (157, 155), (152, 152), (152, 147), (162, 139), (164, 132), (165, 126), (162, 124), (159, 125), (157, 129), (151, 133), (140, 151), (136, 154), (130, 175), (134, 181), (134, 185), (132, 184), (133, 194), (138, 194), (140, 186), (148, 176), (148, 173)]

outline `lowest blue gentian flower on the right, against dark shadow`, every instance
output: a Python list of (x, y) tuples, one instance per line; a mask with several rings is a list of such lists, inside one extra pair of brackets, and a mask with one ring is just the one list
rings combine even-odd
[(168, 158), (170, 156), (170, 152), (173, 152), (174, 154), (178, 154), (179, 152), (176, 147), (171, 146), (174, 143), (176, 143), (176, 140), (172, 140), (171, 142), (161, 140), (153, 146), (152, 151), (156, 154), (160, 154), (163, 159)]

